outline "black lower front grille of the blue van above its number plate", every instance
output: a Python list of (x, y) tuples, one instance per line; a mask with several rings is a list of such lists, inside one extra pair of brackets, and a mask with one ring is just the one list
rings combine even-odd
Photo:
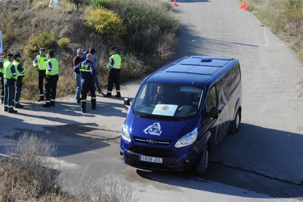
[(132, 146), (130, 151), (142, 154), (145, 156), (151, 156), (151, 157), (173, 157), (175, 156), (174, 153), (172, 153), (168, 149), (162, 149), (162, 148), (156, 148), (156, 147), (148, 147), (148, 146), (139, 146), (135, 145)]

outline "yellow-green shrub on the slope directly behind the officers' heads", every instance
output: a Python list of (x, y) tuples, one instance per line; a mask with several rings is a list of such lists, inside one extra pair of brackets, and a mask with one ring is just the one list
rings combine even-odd
[(40, 47), (50, 48), (55, 41), (54, 32), (40, 32), (38, 35), (32, 34), (29, 38), (27, 45), (24, 47), (24, 53), (26, 56), (33, 56), (39, 51)]

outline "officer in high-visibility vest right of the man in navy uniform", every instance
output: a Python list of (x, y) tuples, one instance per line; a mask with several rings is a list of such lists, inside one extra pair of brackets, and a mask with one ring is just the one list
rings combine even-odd
[(112, 89), (115, 83), (117, 95), (115, 97), (121, 97), (120, 94), (120, 70), (121, 70), (121, 57), (117, 54), (116, 46), (110, 48), (112, 56), (109, 58), (109, 63), (106, 64), (107, 68), (110, 68), (108, 75), (107, 94), (104, 97), (112, 97)]

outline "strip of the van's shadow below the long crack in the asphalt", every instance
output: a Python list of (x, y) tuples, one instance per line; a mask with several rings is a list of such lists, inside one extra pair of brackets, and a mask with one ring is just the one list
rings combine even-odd
[[(163, 184), (185, 187), (189, 189), (208, 191), (218, 194), (233, 195), (239, 197), (251, 197), (256, 195), (246, 190), (256, 193), (266, 194), (263, 198), (298, 198), (303, 197), (303, 186), (283, 183), (279, 180), (266, 178), (249, 171), (240, 170), (219, 163), (210, 162), (208, 173), (205, 175), (196, 174), (193, 171), (186, 172), (159, 172), (137, 170), (137, 174), (147, 180), (160, 182)], [(222, 183), (228, 186), (219, 186)], [(240, 191), (233, 187), (244, 189)], [(262, 195), (258, 194), (258, 198)]]

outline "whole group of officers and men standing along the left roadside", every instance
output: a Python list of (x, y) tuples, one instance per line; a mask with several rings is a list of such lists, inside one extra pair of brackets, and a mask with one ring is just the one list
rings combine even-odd
[[(1, 103), (4, 106), (4, 111), (8, 113), (16, 113), (15, 108), (24, 107), (19, 103), (21, 90), (23, 86), (24, 69), (20, 64), (21, 55), (19, 52), (14, 54), (8, 53), (8, 49), (3, 51), (3, 67), (0, 67), (0, 82), (1, 82)], [(74, 63), (74, 76), (76, 79), (76, 102), (81, 103), (81, 110), (85, 113), (86, 97), (88, 92), (91, 94), (92, 109), (96, 109), (96, 94), (95, 90), (104, 97), (112, 96), (113, 85), (116, 86), (115, 97), (120, 98), (120, 69), (121, 57), (117, 54), (115, 46), (110, 47), (112, 56), (108, 63), (104, 66), (110, 69), (108, 75), (107, 93), (104, 95), (98, 81), (98, 72), (95, 70), (97, 57), (95, 49), (90, 48), (86, 52), (83, 49), (77, 50)], [(54, 50), (48, 50), (45, 54), (45, 48), (39, 49), (39, 54), (35, 57), (33, 65), (38, 72), (38, 102), (44, 101), (43, 107), (55, 106), (56, 88), (59, 79), (59, 62), (54, 57)], [(43, 93), (43, 81), (45, 80), (45, 97)], [(80, 97), (81, 93), (81, 97)]]

